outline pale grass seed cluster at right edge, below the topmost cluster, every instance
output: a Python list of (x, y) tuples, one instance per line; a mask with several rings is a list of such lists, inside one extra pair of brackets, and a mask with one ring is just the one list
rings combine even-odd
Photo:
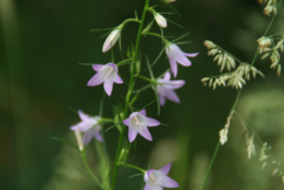
[[(258, 39), (259, 53), (262, 54), (261, 59), (270, 58), (271, 68), (277, 69), (277, 75), (281, 75), (280, 52), (284, 51), (284, 36), (279, 41), (272, 37), (264, 37)], [(273, 46), (272, 46), (273, 45)]]

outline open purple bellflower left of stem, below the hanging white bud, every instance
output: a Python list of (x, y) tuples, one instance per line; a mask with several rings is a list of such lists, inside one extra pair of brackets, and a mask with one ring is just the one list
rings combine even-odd
[(89, 79), (87, 86), (92, 87), (103, 83), (106, 93), (111, 96), (113, 83), (123, 84), (123, 80), (118, 74), (118, 66), (114, 63), (108, 63), (106, 65), (92, 64), (91, 66), (98, 73)]

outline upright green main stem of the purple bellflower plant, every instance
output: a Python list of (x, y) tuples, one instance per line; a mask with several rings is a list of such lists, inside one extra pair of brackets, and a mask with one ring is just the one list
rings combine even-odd
[[(135, 53), (134, 53), (134, 58), (133, 58), (133, 63), (131, 65), (129, 87), (128, 87), (128, 90), (127, 90), (127, 93), (126, 93), (126, 99), (125, 99), (126, 103), (125, 103), (124, 113), (123, 113), (124, 118), (126, 117), (126, 115), (128, 113), (128, 106), (127, 105), (131, 102), (131, 97), (132, 97), (132, 93), (133, 93), (134, 79), (135, 79), (135, 62), (137, 61), (137, 58), (138, 58), (141, 31), (143, 31), (143, 26), (144, 26), (147, 9), (149, 7), (149, 2), (150, 2), (150, 0), (146, 0), (144, 11), (143, 11), (143, 15), (141, 15), (141, 20), (139, 22), (139, 28), (138, 28), (138, 33), (137, 33), (137, 37), (136, 37), (136, 45), (135, 45)], [(116, 175), (118, 175), (118, 168), (119, 168), (119, 164), (120, 164), (119, 159), (120, 159), (120, 153), (121, 153), (124, 137), (125, 137), (125, 125), (122, 125), (122, 130), (120, 132), (119, 143), (118, 143), (118, 148), (116, 148), (114, 166), (113, 166), (113, 170), (112, 170), (112, 183), (111, 183), (112, 190), (115, 189), (115, 185), (116, 185)]]

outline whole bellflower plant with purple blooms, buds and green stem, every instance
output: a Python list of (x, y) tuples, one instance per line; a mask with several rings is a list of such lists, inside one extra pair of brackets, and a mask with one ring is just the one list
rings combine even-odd
[[(170, 3), (174, 2), (174, 0), (168, 0), (164, 2)], [(103, 84), (103, 89), (108, 96), (103, 96), (101, 100), (99, 116), (90, 117), (84, 114), (82, 111), (78, 111), (82, 122), (71, 127), (72, 130), (75, 130), (75, 136), (79, 148), (78, 150), (81, 151), (82, 159), (85, 167), (87, 168), (87, 172), (95, 180), (97, 187), (103, 190), (115, 190), (119, 174), (118, 170), (121, 169), (121, 166), (132, 167), (145, 174), (145, 190), (162, 190), (163, 188), (178, 187), (178, 183), (175, 180), (168, 177), (171, 164), (168, 164), (157, 170), (145, 170), (138, 166), (129, 164), (131, 161), (127, 157), (132, 151), (133, 145), (131, 144), (134, 142), (137, 135), (139, 134), (146, 140), (152, 141), (153, 138), (148, 127), (156, 127), (161, 124), (159, 121), (152, 118), (155, 115), (146, 116), (146, 107), (151, 106), (152, 102), (156, 102), (158, 106), (155, 106), (155, 109), (157, 109), (157, 115), (159, 115), (161, 109), (160, 106), (165, 104), (166, 99), (176, 103), (180, 102), (180, 99), (174, 90), (185, 85), (185, 80), (182, 79), (171, 80), (170, 72), (165, 72), (162, 78), (156, 79), (153, 76), (156, 75), (157, 71), (153, 72), (151, 69), (156, 63), (150, 63), (149, 60), (159, 61), (162, 53), (160, 53), (158, 58), (148, 59), (148, 49), (146, 48), (145, 50), (141, 50), (140, 42), (143, 40), (147, 40), (148, 38), (145, 37), (149, 35), (151, 37), (158, 37), (159, 40), (165, 43), (165, 52), (170, 60), (171, 69), (174, 74), (174, 77), (177, 75), (177, 63), (182, 64), (183, 66), (189, 66), (192, 62), (187, 59), (187, 56), (194, 58), (198, 54), (185, 53), (175, 43), (169, 42), (169, 40), (165, 39), (166, 36), (163, 35), (163, 29), (168, 29), (168, 24), (172, 22), (168, 23), (168, 20), (161, 13), (158, 13), (156, 8), (156, 5), (150, 7), (150, 0), (145, 0), (145, 7), (140, 16), (135, 13), (134, 17), (124, 20), (118, 27), (113, 28), (112, 31), (108, 34), (108, 37), (102, 46), (102, 52), (108, 52), (110, 49), (112, 49), (113, 51), (110, 59), (112, 61), (107, 64), (91, 64), (92, 69), (97, 73), (87, 83), (88, 87)], [(147, 16), (150, 20), (146, 18)], [(150, 22), (147, 24), (147, 21)], [(155, 22), (158, 26), (152, 25)], [(131, 45), (125, 45), (122, 42), (121, 35), (124, 26), (129, 23), (135, 23), (136, 25), (138, 24), (138, 30), (135, 35), (136, 39), (134, 42)], [(156, 31), (157, 29), (159, 33)], [(113, 49), (118, 40), (120, 40), (120, 53), (114, 52), (115, 49)], [(127, 46), (127, 49), (124, 50), (125, 46)], [(159, 51), (164, 51), (164, 45), (161, 45)], [(114, 63), (114, 60), (116, 64)], [(169, 65), (166, 66), (169, 67)], [(148, 68), (148, 72), (145, 68)], [(128, 74), (128, 76), (123, 76), (123, 80), (125, 81), (123, 81), (122, 77), (119, 75), (119, 69), (122, 69), (123, 74)], [(166, 68), (166, 71), (169, 69)], [(147, 76), (147, 73), (150, 74), (150, 78)], [(148, 83), (146, 88), (141, 86), (143, 83), (139, 83), (139, 79), (144, 79)], [(118, 93), (120, 93), (119, 97), (121, 98), (121, 102), (107, 105), (113, 107), (113, 113), (109, 114), (104, 113), (103, 107), (106, 106), (106, 102), (112, 102), (106, 101), (106, 99), (113, 97), (111, 97), (113, 84), (124, 84), (124, 87), (126, 87), (127, 90), (118, 91)], [(155, 90), (156, 96), (152, 93), (150, 89), (151, 87)], [(143, 106), (139, 105), (139, 99), (140, 94), (146, 90), (150, 91), (148, 94), (152, 94), (152, 97), (149, 97), (149, 100), (147, 101), (150, 102)], [(148, 97), (146, 96), (146, 98)], [(138, 112), (135, 112), (137, 110)], [(113, 117), (106, 118), (102, 116), (103, 114), (113, 115)], [(108, 126), (107, 123), (111, 123), (112, 125)], [(104, 128), (106, 126), (108, 127), (107, 129)], [(119, 134), (119, 138), (118, 142), (113, 142), (113, 139), (115, 139), (113, 138), (112, 142), (109, 143), (110, 145), (116, 145), (115, 157), (113, 159), (113, 163), (110, 163), (109, 161), (112, 159), (109, 157), (111, 155), (108, 153), (109, 150), (106, 150), (109, 147), (106, 145), (109, 138), (106, 131), (114, 128), (118, 129), (116, 132)], [(128, 132), (128, 138), (126, 132)], [(82, 135), (84, 135), (83, 138)], [(97, 177), (97, 174), (92, 173), (92, 169), (89, 168), (85, 156), (87, 149), (84, 149), (84, 147), (91, 142), (94, 138), (96, 139), (96, 153), (99, 154), (97, 156), (98, 167), (101, 172), (99, 177)], [(172, 161), (169, 161), (168, 163)]]

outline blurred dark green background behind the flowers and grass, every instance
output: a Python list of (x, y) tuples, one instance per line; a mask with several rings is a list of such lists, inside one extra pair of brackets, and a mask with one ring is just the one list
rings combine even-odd
[[(94, 189), (86, 179), (77, 153), (50, 137), (75, 142), (69, 127), (79, 118), (70, 109), (82, 109), (90, 115), (99, 112), (102, 87), (87, 87), (95, 73), (78, 63), (108, 63), (110, 53), (101, 53), (106, 39), (100, 38), (103, 33), (90, 33), (90, 29), (118, 26), (133, 17), (134, 10), (140, 15), (144, 1), (0, 2), (0, 189)], [(152, 0), (151, 4), (160, 4), (160, 1)], [(190, 31), (185, 40), (192, 43), (182, 46), (182, 49), (199, 52), (199, 55), (192, 59), (190, 67), (178, 66), (177, 78), (186, 80), (186, 86), (177, 90), (182, 103), (168, 101), (159, 117), (156, 116), (156, 105), (149, 107), (149, 115), (169, 126), (151, 130), (153, 142), (138, 138), (131, 157), (137, 165), (146, 167), (150, 155), (161, 156), (161, 160), (153, 159), (152, 164), (158, 163), (156, 166), (177, 156), (171, 176), (182, 185), (181, 189), (195, 190), (200, 189), (219, 139), (218, 132), (224, 126), (236, 96), (234, 89), (213, 91), (200, 83), (202, 77), (219, 73), (215, 63), (207, 56), (203, 40), (210, 39), (240, 60), (250, 62), (257, 48), (256, 40), (264, 33), (271, 17), (263, 16), (263, 7), (257, 0), (177, 0), (172, 5), (181, 16), (165, 16), (184, 28), (169, 23), (164, 34), (181, 36)], [(157, 10), (172, 11), (164, 5)], [(284, 30), (284, 9), (279, 12), (270, 34)], [(124, 45), (135, 38), (136, 29), (135, 26), (125, 28)], [(145, 38), (141, 48), (144, 52), (151, 52), (149, 58), (153, 61), (161, 43), (149, 37)], [(119, 60), (119, 53), (115, 55)], [(156, 76), (169, 66), (164, 58), (153, 68)], [(283, 161), (284, 78), (269, 69), (268, 60), (258, 60), (256, 66), (267, 77), (258, 77), (245, 86), (238, 110), (273, 147), (279, 161)], [(127, 69), (122, 74), (125, 76)], [(111, 107), (121, 101), (125, 89), (125, 86), (114, 86), (112, 97), (106, 101), (106, 116), (112, 115)], [(145, 93), (148, 100), (152, 100), (151, 96), (151, 91)], [(145, 97), (141, 101), (148, 102)], [(283, 188), (281, 180), (271, 177), (269, 169), (261, 172), (257, 157), (247, 159), (245, 137), (237, 119), (231, 128), (234, 129), (230, 131), (227, 144), (219, 152), (208, 189)], [(116, 138), (115, 129), (107, 134), (111, 155), (114, 155)], [(125, 170), (120, 173), (119, 189), (143, 186), (141, 177), (127, 179), (133, 172)]]

